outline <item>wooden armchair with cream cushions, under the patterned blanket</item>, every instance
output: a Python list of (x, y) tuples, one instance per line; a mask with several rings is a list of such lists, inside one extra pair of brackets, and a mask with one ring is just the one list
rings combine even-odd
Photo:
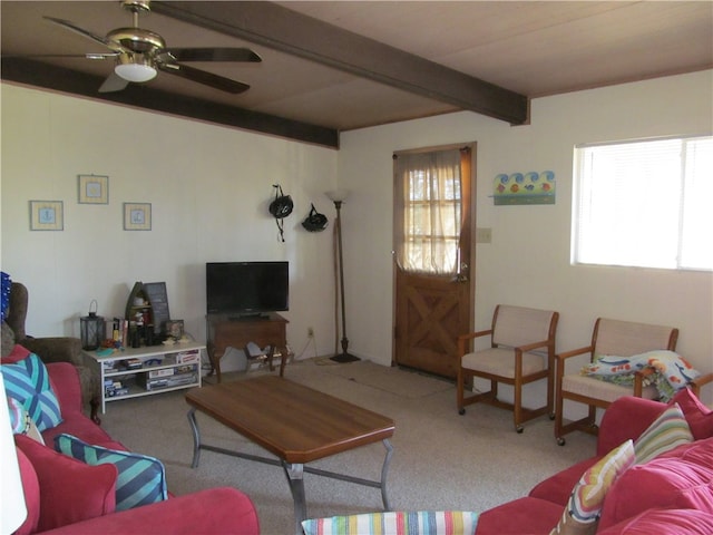
[[(596, 435), (598, 430), (595, 422), (597, 407), (605, 409), (622, 396), (636, 396), (647, 399), (656, 399), (658, 397), (658, 392), (654, 386), (643, 386), (644, 378), (653, 370), (636, 372), (634, 386), (626, 387), (583, 376), (579, 373), (579, 370), (566, 374), (565, 366), (567, 359), (589, 353), (589, 362), (594, 362), (602, 356), (632, 357), (657, 349), (674, 351), (677, 340), (678, 329), (673, 327), (651, 325), (647, 323), (634, 323), (606, 318), (597, 319), (594, 324), (592, 343), (589, 346), (566, 351), (556, 357), (557, 409), (555, 411), (555, 438), (557, 439), (557, 444), (564, 446), (564, 435), (575, 430)], [(563, 416), (565, 399), (587, 405), (587, 416), (565, 425)]]

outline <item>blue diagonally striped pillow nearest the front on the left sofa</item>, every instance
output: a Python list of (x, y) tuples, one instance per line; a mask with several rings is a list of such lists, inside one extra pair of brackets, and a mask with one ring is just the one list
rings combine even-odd
[(55, 437), (55, 449), (87, 465), (116, 466), (116, 510), (154, 504), (168, 497), (166, 470), (155, 457), (91, 446), (67, 434)]

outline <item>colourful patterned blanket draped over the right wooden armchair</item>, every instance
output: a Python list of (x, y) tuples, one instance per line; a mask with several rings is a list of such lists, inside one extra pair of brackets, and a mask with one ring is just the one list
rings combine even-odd
[(632, 357), (603, 354), (585, 366), (582, 374), (628, 387), (634, 385), (634, 374), (644, 368), (654, 370), (644, 379), (644, 386), (654, 385), (658, 399), (664, 402), (701, 376), (683, 357), (668, 350), (647, 351)]

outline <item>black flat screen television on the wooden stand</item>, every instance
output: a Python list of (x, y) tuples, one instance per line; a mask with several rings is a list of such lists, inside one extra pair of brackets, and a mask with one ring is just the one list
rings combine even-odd
[(236, 318), (290, 310), (287, 262), (207, 262), (208, 314)]

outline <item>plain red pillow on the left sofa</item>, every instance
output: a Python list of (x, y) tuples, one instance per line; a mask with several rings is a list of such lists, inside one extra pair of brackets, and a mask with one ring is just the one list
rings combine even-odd
[[(22, 435), (14, 436), (14, 444), (32, 464), (39, 483), (38, 531), (115, 510), (117, 471), (114, 466), (86, 465)], [(22, 483), (25, 486), (25, 479)]]

